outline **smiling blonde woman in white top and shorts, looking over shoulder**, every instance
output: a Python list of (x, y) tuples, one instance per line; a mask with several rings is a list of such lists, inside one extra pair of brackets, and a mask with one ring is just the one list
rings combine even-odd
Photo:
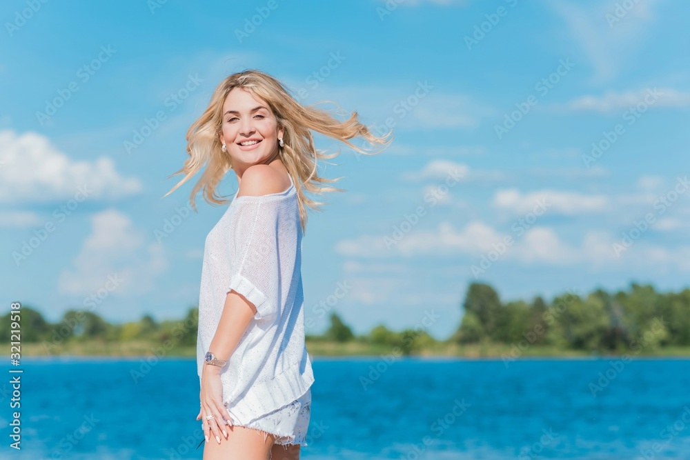
[[(282, 83), (257, 70), (239, 72), (216, 88), (187, 133), (190, 155), (182, 183), (207, 168), (193, 188), (223, 204), (215, 188), (235, 170), (238, 190), (204, 245), (199, 294), (197, 374), (204, 459), (299, 459), (310, 418), (311, 359), (304, 344), (302, 235), (306, 207), (323, 204), (304, 192), (333, 182), (317, 174), (310, 130), (343, 141), (360, 136), (387, 146), (353, 112), (338, 121), (302, 106)], [(173, 175), (175, 175), (173, 174)], [(259, 436), (257, 436), (257, 434)], [(203, 441), (202, 441), (203, 442)]]

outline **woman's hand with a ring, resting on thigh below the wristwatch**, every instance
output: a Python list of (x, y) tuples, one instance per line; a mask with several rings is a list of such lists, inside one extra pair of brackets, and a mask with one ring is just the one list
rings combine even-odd
[[(210, 437), (210, 432), (213, 432), (216, 441), (220, 443), (221, 433), (228, 439), (228, 432), (225, 429), (225, 424), (232, 426), (232, 421), (228, 417), (227, 422), (222, 414), (226, 413), (223, 404), (223, 383), (220, 379), (221, 368), (204, 364), (204, 370), (201, 372), (201, 391), (199, 392), (199, 401), (201, 402), (201, 409), (197, 420), (201, 419), (204, 428), (204, 437), (206, 442)], [(206, 419), (207, 415), (213, 415), (213, 419)]]

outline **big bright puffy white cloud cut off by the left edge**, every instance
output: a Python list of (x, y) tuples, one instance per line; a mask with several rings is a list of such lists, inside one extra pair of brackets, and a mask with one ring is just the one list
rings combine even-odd
[(75, 197), (121, 197), (142, 190), (138, 179), (125, 178), (108, 157), (75, 161), (35, 132), (0, 131), (0, 202), (46, 202)]

